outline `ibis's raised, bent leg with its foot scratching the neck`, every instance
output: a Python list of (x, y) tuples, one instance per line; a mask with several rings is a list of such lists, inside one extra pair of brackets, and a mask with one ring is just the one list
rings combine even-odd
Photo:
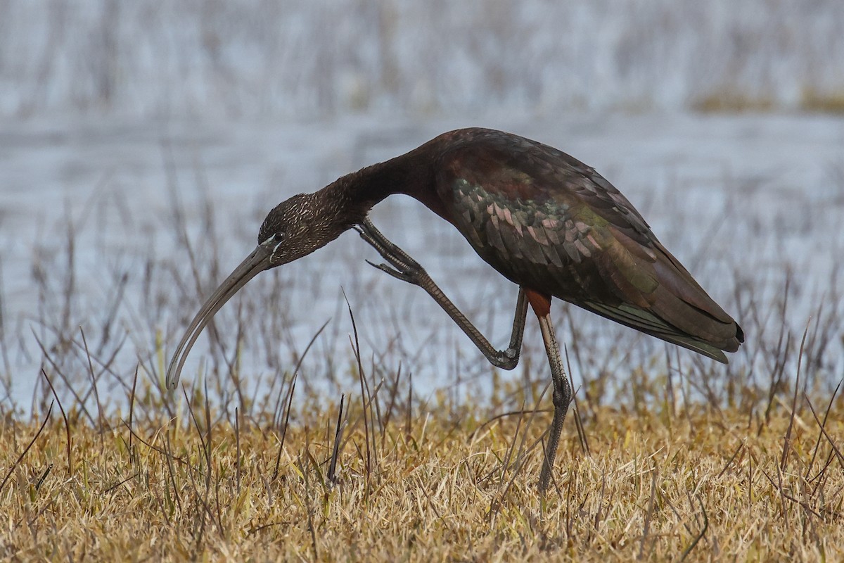
[(490, 360), (492, 365), (500, 367), (503, 370), (511, 370), (519, 363), (519, 353), (522, 350), (522, 335), (525, 329), (525, 317), (527, 316), (527, 297), (525, 291), (519, 288), (519, 297), (516, 304), (516, 317), (513, 319), (513, 330), (510, 336), (510, 345), (506, 350), (495, 349), (490, 341), (480, 333), (472, 322), (463, 315), (457, 306), (448, 299), (442, 290), (430, 279), (430, 276), (425, 272), (425, 268), (419, 265), (412, 257), (408, 256), (401, 248), (387, 240), (387, 237), (381, 234), (381, 231), (372, 225), (372, 222), (367, 217), (360, 225), (355, 226), (355, 230), (360, 233), (360, 238), (368, 242), (373, 248), (387, 260), (387, 264), (375, 264), (369, 260), (366, 262), (371, 266), (378, 268), (384, 272), (392, 275), (393, 278), (398, 278), (408, 282), (408, 284), (419, 285), (420, 288), (427, 291), (428, 294), (436, 300), (449, 317), (457, 323), (464, 333), (472, 340), (475, 346)]

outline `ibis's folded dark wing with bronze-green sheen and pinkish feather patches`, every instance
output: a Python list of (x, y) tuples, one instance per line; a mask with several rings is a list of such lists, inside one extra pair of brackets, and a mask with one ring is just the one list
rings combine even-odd
[(738, 348), (738, 325), (609, 181), (544, 144), (481, 131), (441, 154), (436, 188), (486, 262), (517, 284), (717, 360)]

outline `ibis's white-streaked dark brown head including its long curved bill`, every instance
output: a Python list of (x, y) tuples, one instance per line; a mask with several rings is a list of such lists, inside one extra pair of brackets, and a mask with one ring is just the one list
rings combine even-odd
[(358, 219), (344, 211), (347, 210), (342, 201), (326, 198), (322, 192), (300, 193), (273, 208), (258, 230), (258, 246), (219, 284), (193, 317), (170, 360), (167, 387), (176, 387), (188, 352), (226, 301), (258, 273), (305, 257), (351, 228)]

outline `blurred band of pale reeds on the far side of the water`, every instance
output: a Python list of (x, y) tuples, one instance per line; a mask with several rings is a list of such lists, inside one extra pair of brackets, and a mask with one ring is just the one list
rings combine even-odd
[(844, 111), (840, 0), (3, 0), (0, 116)]

